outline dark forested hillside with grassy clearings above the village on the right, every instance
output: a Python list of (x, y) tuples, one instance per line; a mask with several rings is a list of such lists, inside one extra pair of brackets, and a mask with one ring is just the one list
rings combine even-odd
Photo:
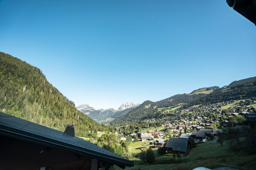
[[(207, 105), (228, 100), (240, 100), (256, 96), (256, 77), (234, 81), (230, 85), (219, 88), (217, 86), (201, 88), (190, 94), (177, 94), (158, 102), (145, 101), (140, 106), (132, 109), (128, 114), (116, 118), (112, 124), (136, 124), (143, 123), (145, 119), (162, 118), (170, 116), (163, 114), (158, 108), (180, 105), (179, 109), (194, 105)], [(181, 105), (182, 104), (182, 105)]]

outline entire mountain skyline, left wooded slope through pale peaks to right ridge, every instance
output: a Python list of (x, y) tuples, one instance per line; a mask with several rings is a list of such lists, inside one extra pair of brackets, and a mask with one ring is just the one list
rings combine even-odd
[(221, 88), (200, 88), (190, 94), (177, 94), (157, 102), (124, 103), (118, 110), (96, 110), (86, 104), (75, 107), (74, 102), (47, 81), (39, 68), (16, 57), (0, 52), (0, 65), (0, 111), (60, 131), (64, 131), (66, 124), (75, 124), (76, 136), (86, 136), (95, 129), (114, 131), (113, 126), (99, 122), (116, 126), (163, 118), (166, 114), (161, 112), (161, 108), (164, 107), (182, 109), (256, 97), (256, 77), (252, 77)]

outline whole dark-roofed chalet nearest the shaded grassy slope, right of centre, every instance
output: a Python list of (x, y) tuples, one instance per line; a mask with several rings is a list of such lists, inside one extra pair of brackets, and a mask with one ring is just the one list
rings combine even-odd
[(186, 154), (189, 149), (190, 149), (190, 142), (188, 138), (180, 138), (180, 137), (170, 137), (167, 144), (166, 148), (169, 148), (167, 150), (167, 153), (181, 153), (181, 154)]

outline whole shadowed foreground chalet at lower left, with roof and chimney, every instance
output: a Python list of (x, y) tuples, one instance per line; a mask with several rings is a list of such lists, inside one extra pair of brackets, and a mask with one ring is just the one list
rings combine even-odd
[[(65, 132), (0, 112), (0, 169), (109, 169), (134, 166), (133, 161)], [(3, 147), (4, 146), (4, 147)]]

